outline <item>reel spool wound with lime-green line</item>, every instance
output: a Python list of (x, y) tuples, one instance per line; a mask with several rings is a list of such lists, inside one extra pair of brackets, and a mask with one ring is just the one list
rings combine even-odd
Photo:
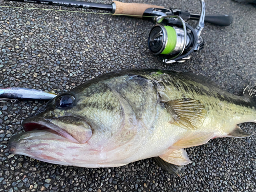
[[(190, 38), (187, 36), (186, 46)], [(178, 27), (155, 25), (148, 37), (148, 46), (153, 54), (171, 55), (180, 52), (185, 43), (184, 30)]]

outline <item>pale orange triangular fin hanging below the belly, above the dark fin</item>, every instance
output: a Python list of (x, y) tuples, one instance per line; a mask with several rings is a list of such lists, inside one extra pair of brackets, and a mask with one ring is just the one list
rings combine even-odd
[(166, 154), (163, 154), (159, 157), (168, 163), (179, 166), (187, 165), (192, 162), (187, 157), (187, 152), (182, 148), (179, 148), (178, 150), (169, 150)]

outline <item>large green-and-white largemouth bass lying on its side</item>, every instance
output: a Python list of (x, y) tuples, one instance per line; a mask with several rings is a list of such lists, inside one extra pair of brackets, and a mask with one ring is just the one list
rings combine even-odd
[[(186, 147), (217, 137), (248, 137), (237, 125), (256, 122), (256, 91), (236, 96), (205, 78), (161, 70), (96, 77), (50, 100), (23, 121), (13, 154), (81, 167), (122, 166), (157, 157), (166, 170), (191, 161)], [(169, 164), (170, 163), (170, 164)]]

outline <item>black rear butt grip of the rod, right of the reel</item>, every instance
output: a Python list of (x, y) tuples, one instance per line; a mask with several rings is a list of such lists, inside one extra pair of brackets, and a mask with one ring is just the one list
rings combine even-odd
[[(199, 14), (190, 14), (192, 20), (198, 20)], [(204, 21), (218, 26), (229, 26), (232, 23), (232, 17), (229, 15), (205, 15)]]

